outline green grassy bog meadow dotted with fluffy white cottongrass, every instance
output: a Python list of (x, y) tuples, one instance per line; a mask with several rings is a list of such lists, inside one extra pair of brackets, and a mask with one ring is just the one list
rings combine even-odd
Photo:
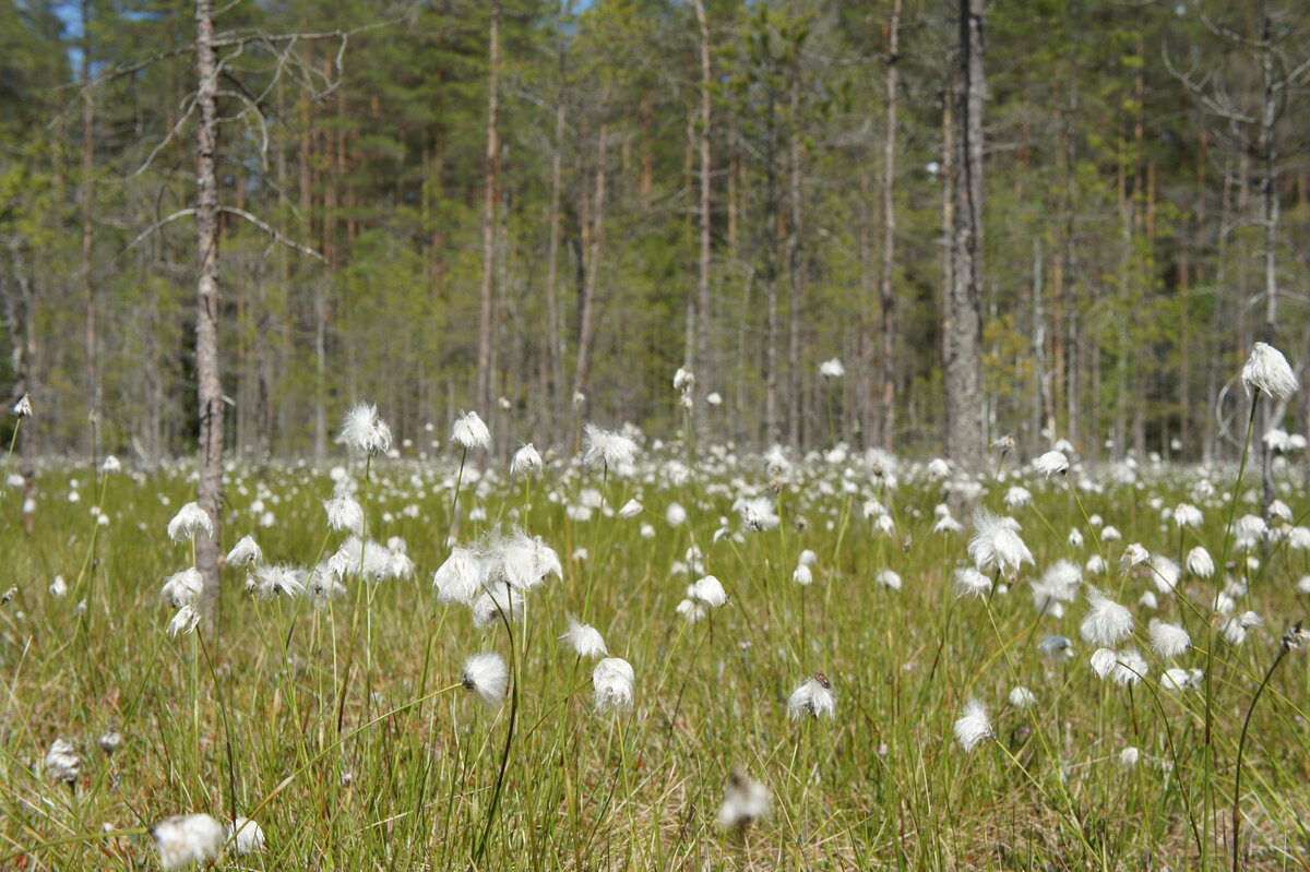
[[(30, 536), (10, 482), (0, 868), (1220, 869), (1234, 820), (1242, 868), (1306, 868), (1303, 452), (1264, 524), (1254, 460), (964, 478), (633, 432), (511, 475), (444, 429), (229, 465), (223, 550), (262, 556), (195, 618), (161, 597), (193, 467), (46, 465)], [(490, 606), (439, 600), (456, 546)], [(506, 687), (465, 680), (487, 652)], [(262, 838), (161, 855), (179, 814)]]

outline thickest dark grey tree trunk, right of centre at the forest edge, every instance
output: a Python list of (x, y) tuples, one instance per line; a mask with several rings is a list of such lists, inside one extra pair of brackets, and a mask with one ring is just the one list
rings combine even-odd
[(946, 454), (965, 471), (982, 462), (982, 0), (960, 0), (960, 181), (945, 369)]

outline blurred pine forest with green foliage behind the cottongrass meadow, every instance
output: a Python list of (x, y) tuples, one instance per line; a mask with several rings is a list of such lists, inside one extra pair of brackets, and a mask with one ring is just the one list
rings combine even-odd
[[(414, 453), (461, 409), (676, 436), (688, 364), (701, 440), (939, 452), (960, 9), (220, 4), (228, 450), (322, 458), (359, 399)], [(195, 450), (195, 21), (0, 0), (29, 449), (96, 409), (102, 450)], [(1251, 343), (1310, 360), (1310, 4), (998, 0), (984, 64), (985, 439), (1231, 456)]]

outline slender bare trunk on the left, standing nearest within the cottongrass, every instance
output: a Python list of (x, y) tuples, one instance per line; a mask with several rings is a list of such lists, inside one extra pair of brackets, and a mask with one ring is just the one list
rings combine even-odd
[(219, 382), (219, 189), (215, 166), (219, 64), (214, 50), (214, 0), (195, 1), (195, 377), (200, 415), (196, 501), (214, 522), (212, 537), (196, 537), (195, 563), (204, 579), (207, 621), (217, 622), (219, 551), (223, 542), (223, 386)]

